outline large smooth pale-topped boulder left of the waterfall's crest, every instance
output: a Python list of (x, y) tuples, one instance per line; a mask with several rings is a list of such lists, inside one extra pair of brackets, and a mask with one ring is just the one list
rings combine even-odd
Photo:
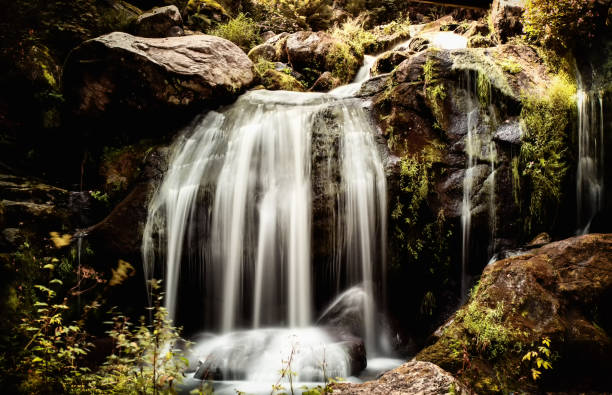
[(66, 98), (85, 116), (216, 106), (234, 99), (253, 79), (251, 60), (223, 38), (119, 32), (81, 44), (63, 74)]

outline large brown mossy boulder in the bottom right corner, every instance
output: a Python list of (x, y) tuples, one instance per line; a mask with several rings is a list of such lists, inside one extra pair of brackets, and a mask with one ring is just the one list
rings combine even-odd
[[(487, 266), (470, 302), (417, 359), (460, 374), (482, 392), (499, 385), (529, 393), (605, 391), (611, 384), (611, 313), (612, 235), (574, 237)], [(523, 356), (538, 351), (544, 338), (558, 358), (533, 381)], [(461, 352), (449, 352), (452, 344), (466, 345), (468, 365)]]

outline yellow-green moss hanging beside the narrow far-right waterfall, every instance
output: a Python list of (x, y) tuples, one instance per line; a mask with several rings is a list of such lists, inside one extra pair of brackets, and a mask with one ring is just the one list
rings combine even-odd
[[(559, 75), (545, 95), (524, 98), (524, 130), (518, 168), (523, 176), (518, 189), (527, 193), (525, 228), (531, 234), (554, 218), (568, 169), (567, 129), (576, 106), (576, 86)], [(516, 189), (516, 188), (515, 188)]]

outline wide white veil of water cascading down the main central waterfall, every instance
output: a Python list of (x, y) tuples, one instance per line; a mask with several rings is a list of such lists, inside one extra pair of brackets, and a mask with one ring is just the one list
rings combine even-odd
[[(370, 66), (358, 78), (366, 79)], [(175, 143), (149, 206), (146, 275), (162, 270), (171, 318), (177, 317), (185, 266), (189, 275), (202, 275), (204, 297), (221, 297), (211, 304), (221, 335), (200, 342), (196, 353), (206, 361), (202, 366), (224, 378), (278, 377), (295, 343), (308, 349), (292, 366), (302, 379), (322, 380), (315, 355), (321, 347), (330, 372), (351, 374), (346, 342), (308, 327), (314, 312), (311, 145), (313, 131), (325, 133), (326, 122), (340, 131), (340, 180), (331, 181), (338, 183), (338, 251), (329, 282), (365, 292), (364, 343), (369, 353), (377, 348), (386, 178), (367, 103), (349, 96), (348, 91), (249, 92), (226, 110), (197, 120)], [(279, 326), (287, 329), (271, 328)], [(294, 335), (298, 340), (289, 341)]]

